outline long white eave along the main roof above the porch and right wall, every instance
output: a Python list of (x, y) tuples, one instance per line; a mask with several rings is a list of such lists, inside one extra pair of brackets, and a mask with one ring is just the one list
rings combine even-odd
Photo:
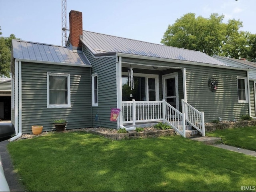
[(222, 65), (215, 65), (215, 64), (192, 62), (192, 61), (168, 59), (168, 58), (157, 58), (157, 57), (134, 55), (134, 54), (126, 54), (126, 53), (119, 53), (119, 52), (117, 52), (116, 55), (117, 56), (121, 56), (121, 57), (128, 57), (128, 58), (157, 60), (157, 61), (173, 62), (173, 63), (180, 63), (180, 64), (190, 64), (190, 65), (199, 65), (199, 66), (207, 66), (207, 67), (216, 67), (216, 68), (226, 68), (226, 69), (233, 69), (233, 70), (250, 71), (250, 69), (248, 69), (248, 68), (238, 68), (238, 67), (222, 66)]

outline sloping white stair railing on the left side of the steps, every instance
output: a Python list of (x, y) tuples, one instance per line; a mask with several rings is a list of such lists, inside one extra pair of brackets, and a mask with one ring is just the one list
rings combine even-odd
[(185, 113), (181, 113), (165, 100), (163, 100), (163, 121), (180, 135), (186, 137)]

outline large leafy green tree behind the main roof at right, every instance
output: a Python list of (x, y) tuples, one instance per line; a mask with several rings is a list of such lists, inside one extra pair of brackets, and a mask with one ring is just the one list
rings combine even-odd
[(210, 18), (196, 18), (195, 15), (185, 14), (173, 25), (168, 25), (161, 43), (201, 51), (209, 56), (243, 57), (248, 60), (253, 57), (248, 54), (253, 55), (255, 52), (251, 48), (254, 45), (255, 50), (255, 36), (249, 32), (239, 31), (242, 27), (240, 20), (228, 20), (225, 24), (222, 22), (224, 15), (213, 13)]

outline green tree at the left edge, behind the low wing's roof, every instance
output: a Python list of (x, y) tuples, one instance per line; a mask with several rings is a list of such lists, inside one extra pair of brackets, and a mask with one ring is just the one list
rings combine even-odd
[(0, 76), (10, 77), (12, 39), (16, 39), (14, 34), (10, 34), (10, 37), (0, 36)]

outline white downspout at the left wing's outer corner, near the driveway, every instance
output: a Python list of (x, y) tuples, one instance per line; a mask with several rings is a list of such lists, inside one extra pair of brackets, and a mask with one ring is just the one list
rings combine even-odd
[[(18, 75), (18, 76), (17, 76)], [(18, 93), (17, 93), (18, 90)], [(21, 87), (21, 62), (15, 61), (15, 131), (18, 134), (9, 139), (9, 141), (14, 141), (22, 136), (22, 87)], [(19, 103), (18, 103), (19, 102)], [(19, 106), (19, 108), (18, 108)], [(19, 113), (18, 113), (19, 111)], [(19, 121), (19, 123), (18, 123)]]

